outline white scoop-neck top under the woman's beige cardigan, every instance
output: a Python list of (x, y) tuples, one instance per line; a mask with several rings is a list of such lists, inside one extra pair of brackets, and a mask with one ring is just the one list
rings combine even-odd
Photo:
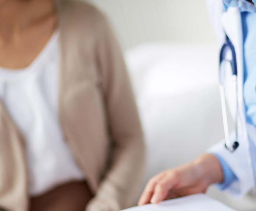
[(0, 68), (0, 98), (26, 141), (31, 196), (85, 178), (59, 124), (58, 35), (55, 32), (27, 68)]

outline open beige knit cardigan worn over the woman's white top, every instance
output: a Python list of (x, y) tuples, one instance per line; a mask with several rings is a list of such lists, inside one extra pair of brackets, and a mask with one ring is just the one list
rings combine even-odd
[[(93, 6), (72, 0), (56, 3), (59, 118), (96, 194), (86, 210), (132, 206), (141, 185), (144, 143), (122, 52), (105, 17)], [(27, 185), (25, 142), (0, 102), (0, 207), (27, 211)]]

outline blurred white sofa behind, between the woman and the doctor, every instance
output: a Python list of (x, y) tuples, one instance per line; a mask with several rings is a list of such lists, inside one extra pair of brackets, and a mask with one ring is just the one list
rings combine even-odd
[[(156, 173), (196, 158), (224, 136), (217, 54), (214, 46), (171, 44), (126, 52), (147, 146), (144, 184)], [(236, 210), (254, 210), (250, 195), (235, 199), (214, 187), (208, 194)]]

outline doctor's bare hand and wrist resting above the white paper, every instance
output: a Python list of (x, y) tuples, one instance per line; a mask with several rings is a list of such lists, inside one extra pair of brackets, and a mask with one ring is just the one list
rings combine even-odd
[(166, 170), (151, 178), (138, 205), (204, 193), (209, 185), (222, 181), (223, 172), (218, 159), (207, 153), (191, 163)]

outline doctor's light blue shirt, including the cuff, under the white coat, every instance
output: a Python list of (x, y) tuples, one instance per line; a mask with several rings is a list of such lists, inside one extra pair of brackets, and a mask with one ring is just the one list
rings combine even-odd
[[(226, 9), (229, 6), (239, 7), (242, 18), (243, 46), (244, 46), (244, 102), (246, 109), (246, 121), (256, 126), (256, 7), (246, 0), (223, 0)], [(256, 0), (253, 0), (256, 2)], [(250, 29), (250, 30), (248, 30)], [(221, 164), (224, 181), (217, 184), (221, 190), (237, 180), (236, 175), (225, 160), (214, 154)]]

